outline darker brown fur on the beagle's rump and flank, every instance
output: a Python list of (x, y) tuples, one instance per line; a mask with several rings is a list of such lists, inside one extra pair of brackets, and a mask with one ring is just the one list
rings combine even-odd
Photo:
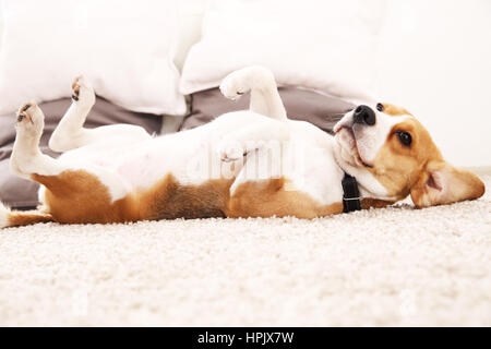
[(63, 224), (107, 224), (172, 218), (224, 217), (232, 180), (209, 180), (181, 185), (166, 176), (149, 190), (111, 203), (106, 185), (86, 171), (59, 176), (33, 174), (47, 190), (45, 202), (53, 219)]

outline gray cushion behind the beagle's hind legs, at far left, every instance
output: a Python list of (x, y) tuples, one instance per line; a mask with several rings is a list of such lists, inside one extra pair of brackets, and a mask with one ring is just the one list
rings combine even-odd
[[(48, 148), (48, 141), (61, 117), (70, 107), (70, 98), (48, 101), (40, 105), (45, 113), (45, 131), (40, 141), (43, 153), (53, 157), (59, 154)], [(148, 133), (158, 133), (161, 117), (128, 111), (103, 98), (97, 101), (88, 115), (85, 127), (88, 129), (105, 124), (131, 123), (143, 127)], [(0, 200), (14, 208), (32, 208), (37, 206), (38, 184), (16, 177), (10, 172), (9, 158), (15, 140), (15, 116), (0, 116)]]

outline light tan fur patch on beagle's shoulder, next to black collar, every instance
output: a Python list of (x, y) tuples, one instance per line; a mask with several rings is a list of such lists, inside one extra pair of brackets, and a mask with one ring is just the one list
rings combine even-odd
[(299, 191), (286, 191), (284, 178), (246, 182), (230, 197), (228, 217), (315, 218), (343, 213), (343, 203), (320, 205)]

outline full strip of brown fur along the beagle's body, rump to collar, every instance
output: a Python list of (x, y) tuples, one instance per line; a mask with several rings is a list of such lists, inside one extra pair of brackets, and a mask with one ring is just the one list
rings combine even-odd
[(283, 178), (244, 183), (229, 197), (233, 179), (182, 185), (168, 174), (149, 190), (131, 193), (113, 203), (98, 178), (83, 170), (32, 178), (46, 186), (48, 210), (52, 219), (63, 224), (208, 217), (314, 218), (343, 212), (342, 203), (322, 206), (307, 194), (286, 191)]

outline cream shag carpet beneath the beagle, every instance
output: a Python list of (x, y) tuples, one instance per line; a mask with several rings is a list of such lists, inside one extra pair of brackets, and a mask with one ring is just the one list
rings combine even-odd
[(490, 200), (4, 229), (0, 325), (490, 326)]

